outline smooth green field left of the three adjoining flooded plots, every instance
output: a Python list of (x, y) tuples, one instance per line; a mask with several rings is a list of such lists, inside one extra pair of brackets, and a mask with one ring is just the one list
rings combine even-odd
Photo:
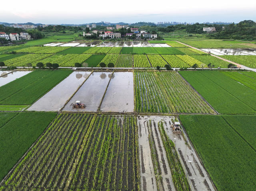
[(0, 87), (0, 104), (32, 104), (66, 78), (71, 70), (36, 70)]

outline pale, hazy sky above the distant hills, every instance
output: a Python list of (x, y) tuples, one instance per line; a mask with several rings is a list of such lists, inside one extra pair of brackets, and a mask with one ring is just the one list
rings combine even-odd
[(256, 21), (256, 0), (12, 0), (11, 4), (13, 6), (1, 4), (0, 22), (85, 24), (101, 21)]

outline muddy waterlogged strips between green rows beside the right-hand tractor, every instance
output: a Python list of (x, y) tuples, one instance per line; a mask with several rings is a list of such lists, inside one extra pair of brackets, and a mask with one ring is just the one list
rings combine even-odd
[[(214, 186), (206, 170), (201, 165), (194, 149), (189, 142), (187, 142), (188, 138), (186, 135), (183, 137), (182, 134), (173, 133), (171, 125), (174, 123), (174, 120), (174, 116), (138, 116), (138, 143), (142, 190), (157, 190), (150, 139), (154, 140), (154, 152), (156, 152), (155, 155), (157, 163), (159, 164), (158, 168), (160, 168), (158, 174), (162, 177), (162, 182), (159, 182), (159, 187), (169, 191), (176, 190), (176, 184), (172, 179), (172, 170), (170, 171), (171, 168), (163, 144), (164, 139), (160, 132), (160, 124), (162, 124), (166, 136), (168, 136), (175, 145), (176, 154), (178, 155), (177, 159), (180, 161), (185, 171), (190, 188), (195, 191), (214, 191)], [(174, 175), (174, 177), (175, 176), (176, 175)]]

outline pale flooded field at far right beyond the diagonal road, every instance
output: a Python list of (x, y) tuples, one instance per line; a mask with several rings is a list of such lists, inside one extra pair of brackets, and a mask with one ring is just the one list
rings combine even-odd
[(256, 49), (202, 49), (215, 55), (256, 55)]

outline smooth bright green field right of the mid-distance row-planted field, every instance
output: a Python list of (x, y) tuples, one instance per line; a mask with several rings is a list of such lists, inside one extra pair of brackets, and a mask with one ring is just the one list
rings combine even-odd
[(218, 112), (256, 112), (256, 91), (234, 81), (220, 71), (179, 71)]

